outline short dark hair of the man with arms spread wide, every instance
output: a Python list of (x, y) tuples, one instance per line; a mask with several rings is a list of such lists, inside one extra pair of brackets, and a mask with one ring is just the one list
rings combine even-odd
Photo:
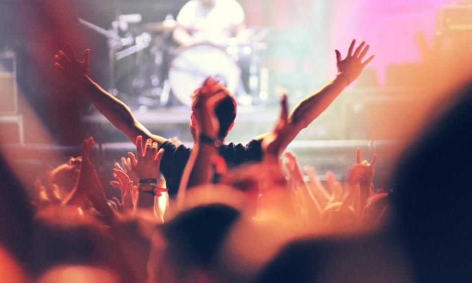
[[(200, 94), (201, 88), (197, 88), (192, 94), (192, 111), (195, 109), (195, 103), (197, 97)], [(220, 130), (218, 131), (218, 138), (226, 138), (228, 135), (231, 124), (236, 118), (236, 99), (235, 96), (227, 89), (222, 90), (226, 97), (216, 106), (215, 114), (220, 124)]]

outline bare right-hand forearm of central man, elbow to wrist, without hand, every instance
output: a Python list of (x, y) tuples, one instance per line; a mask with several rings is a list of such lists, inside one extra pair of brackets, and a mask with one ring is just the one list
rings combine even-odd
[(289, 121), (298, 129), (306, 128), (316, 117), (328, 108), (331, 102), (346, 88), (348, 81), (346, 78), (336, 76), (319, 91), (303, 99), (289, 117)]

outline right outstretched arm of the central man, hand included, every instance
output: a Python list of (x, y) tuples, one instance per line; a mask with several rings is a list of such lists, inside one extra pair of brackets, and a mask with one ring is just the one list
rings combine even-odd
[[(360, 75), (364, 67), (374, 59), (374, 56), (369, 57), (362, 62), (369, 51), (369, 45), (365, 45), (363, 41), (354, 51), (355, 40), (352, 41), (349, 47), (348, 55), (342, 59), (341, 53), (336, 50), (336, 61), (338, 67), (338, 74), (327, 85), (322, 87), (317, 92), (309, 95), (295, 106), (294, 111), (288, 118), (286, 127), (287, 135), (284, 137), (282, 148), (292, 142), (298, 133), (306, 128), (316, 117), (318, 117), (324, 110), (333, 102), (333, 100)], [(354, 52), (354, 53), (353, 53)], [(263, 139), (266, 135), (257, 137), (256, 139)]]

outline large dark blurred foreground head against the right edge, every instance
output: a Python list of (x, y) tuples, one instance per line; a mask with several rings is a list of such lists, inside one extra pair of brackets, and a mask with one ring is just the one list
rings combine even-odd
[(472, 82), (434, 110), (444, 107), (395, 177), (396, 229), (417, 282), (471, 281)]

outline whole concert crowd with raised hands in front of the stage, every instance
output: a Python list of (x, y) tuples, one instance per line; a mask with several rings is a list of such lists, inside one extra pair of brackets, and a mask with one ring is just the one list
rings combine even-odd
[(102, 184), (89, 137), (80, 156), (38, 176), (28, 193), (1, 162), (1, 282), (464, 282), (471, 193), (452, 176), (467, 166), (447, 153), (468, 151), (470, 127), (454, 130), (470, 103), (414, 148), (393, 194), (373, 184), (377, 155), (362, 161), (357, 149), (344, 179), (328, 172), (324, 182), (286, 150), (374, 58), (368, 51), (355, 40), (345, 57), (336, 50), (336, 77), (292, 113), (283, 96), (274, 129), (246, 145), (226, 142), (236, 100), (207, 78), (192, 96), (187, 148), (150, 133), (89, 77), (90, 51), (79, 60), (66, 44), (55, 65), (136, 150)]

